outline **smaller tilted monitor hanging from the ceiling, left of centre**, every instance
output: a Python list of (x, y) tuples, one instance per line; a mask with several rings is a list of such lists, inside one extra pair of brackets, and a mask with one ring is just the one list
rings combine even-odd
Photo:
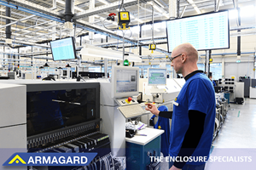
[(73, 37), (67, 37), (50, 42), (53, 60), (77, 59)]

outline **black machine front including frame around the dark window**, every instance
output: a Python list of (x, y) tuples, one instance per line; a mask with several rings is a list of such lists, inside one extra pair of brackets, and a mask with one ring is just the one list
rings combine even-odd
[[(26, 84), (27, 139), (45, 144), (100, 127), (98, 82)], [(93, 125), (90, 125), (93, 123)], [(35, 139), (35, 141), (33, 141)], [(38, 144), (35, 144), (38, 145)]]

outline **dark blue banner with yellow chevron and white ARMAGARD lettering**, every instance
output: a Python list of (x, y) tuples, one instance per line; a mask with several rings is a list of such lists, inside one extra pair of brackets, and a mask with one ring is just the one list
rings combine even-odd
[(86, 166), (97, 153), (15, 153), (3, 166)]

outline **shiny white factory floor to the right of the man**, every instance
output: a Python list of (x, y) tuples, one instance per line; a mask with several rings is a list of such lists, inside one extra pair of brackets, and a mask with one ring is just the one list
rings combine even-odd
[[(235, 150), (234, 150), (235, 149)], [(215, 156), (216, 152), (225, 153), (227, 156), (247, 156), (250, 155), (250, 150), (255, 153), (256, 149), (256, 99), (245, 99), (243, 105), (230, 104), (230, 109), (224, 121), (224, 124), (218, 133), (218, 136), (212, 143), (212, 154)], [(218, 150), (218, 151), (217, 151)], [(234, 151), (234, 153), (232, 153)], [(236, 153), (235, 153), (236, 152)], [(254, 154), (253, 153), (253, 154)], [(253, 162), (255, 165), (256, 160)], [(224, 164), (224, 162), (207, 162), (206, 170), (215, 169), (240, 169), (243, 164)], [(167, 170), (167, 163), (163, 162), (161, 170)], [(219, 167), (218, 167), (219, 166)], [(244, 168), (242, 168), (244, 169)], [(251, 169), (251, 168), (247, 168)], [(254, 169), (254, 168), (253, 168)]]

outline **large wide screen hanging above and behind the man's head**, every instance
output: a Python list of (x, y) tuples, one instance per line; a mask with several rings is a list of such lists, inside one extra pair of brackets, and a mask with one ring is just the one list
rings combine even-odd
[(189, 42), (197, 50), (230, 48), (229, 11), (166, 22), (168, 51)]

